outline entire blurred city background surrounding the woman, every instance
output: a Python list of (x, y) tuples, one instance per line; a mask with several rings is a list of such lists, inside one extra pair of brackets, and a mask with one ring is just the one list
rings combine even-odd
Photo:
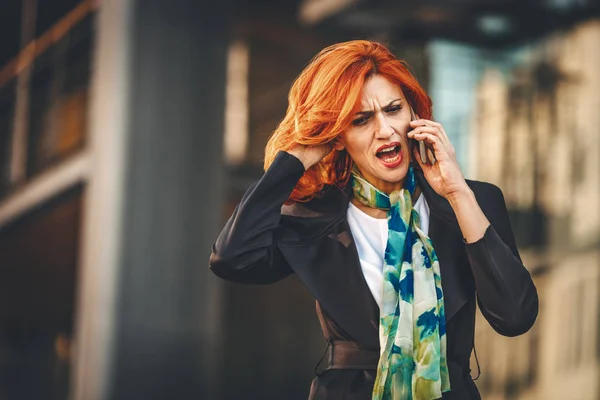
[(295, 277), (208, 270), (321, 48), (387, 43), (467, 178), (500, 186), (540, 295), (478, 315), (485, 399), (600, 399), (595, 0), (2, 0), (0, 399), (306, 399), (325, 350)]

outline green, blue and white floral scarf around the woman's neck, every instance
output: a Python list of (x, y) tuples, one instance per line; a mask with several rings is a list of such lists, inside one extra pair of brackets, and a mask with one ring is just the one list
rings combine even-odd
[(367, 182), (356, 168), (352, 188), (358, 201), (388, 214), (379, 323), (381, 355), (373, 399), (439, 399), (450, 390), (444, 296), (438, 258), (413, 209), (413, 167), (404, 188), (389, 196)]

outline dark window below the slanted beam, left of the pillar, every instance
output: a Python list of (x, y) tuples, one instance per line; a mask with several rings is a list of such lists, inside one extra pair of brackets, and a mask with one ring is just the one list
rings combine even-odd
[(76, 187), (0, 229), (0, 398), (68, 397), (82, 209)]

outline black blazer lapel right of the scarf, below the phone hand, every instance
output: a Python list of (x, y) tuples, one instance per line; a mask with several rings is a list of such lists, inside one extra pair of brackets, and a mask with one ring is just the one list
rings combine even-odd
[(415, 169), (415, 175), (430, 209), (429, 238), (440, 263), (446, 321), (450, 321), (469, 300), (465, 244), (450, 203), (429, 186), (421, 170)]

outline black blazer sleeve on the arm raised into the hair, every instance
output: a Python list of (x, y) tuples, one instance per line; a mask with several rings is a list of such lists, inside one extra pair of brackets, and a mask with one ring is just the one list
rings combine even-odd
[(267, 284), (292, 273), (275, 242), (281, 207), (304, 174), (300, 160), (279, 152), (244, 194), (212, 247), (209, 267), (229, 281)]

